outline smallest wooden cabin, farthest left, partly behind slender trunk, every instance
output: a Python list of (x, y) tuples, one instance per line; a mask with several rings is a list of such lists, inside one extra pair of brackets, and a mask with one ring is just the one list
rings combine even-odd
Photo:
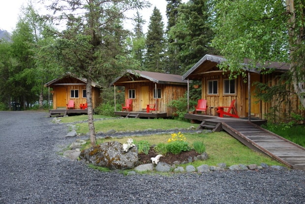
[[(49, 87), (49, 90), (52, 89), (50, 93), (53, 95), (53, 112), (59, 112), (54, 110), (69, 110), (73, 113), (76, 113), (76, 110), (86, 112), (87, 110), (84, 110), (85, 106), (82, 105), (87, 103), (86, 83), (86, 79), (75, 77), (70, 73), (46, 83), (44, 86)], [(93, 108), (101, 102), (101, 88), (100, 85), (92, 82)], [(74, 102), (74, 108), (67, 108), (70, 100)]]

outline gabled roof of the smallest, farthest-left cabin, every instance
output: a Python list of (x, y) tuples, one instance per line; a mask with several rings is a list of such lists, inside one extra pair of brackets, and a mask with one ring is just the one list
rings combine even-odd
[[(68, 72), (65, 75), (63, 75), (62, 77), (59, 77), (59, 78), (56, 78), (56, 79), (53, 79), (53, 80), (47, 82), (46, 84), (44, 84), (44, 86), (52, 87), (52, 86), (75, 85), (75, 84), (86, 85), (86, 83), (87, 83), (87, 79), (76, 77), (74, 74)], [(92, 82), (91, 86), (96, 87), (96, 88), (102, 88), (101, 85), (99, 85), (95, 82)]]

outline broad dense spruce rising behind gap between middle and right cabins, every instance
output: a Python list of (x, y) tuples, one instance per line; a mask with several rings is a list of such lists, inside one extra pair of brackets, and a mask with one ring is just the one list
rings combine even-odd
[(169, 38), (177, 39), (177, 58), (183, 74), (196, 64), (205, 54), (213, 54), (210, 46), (213, 38), (209, 23), (207, 0), (189, 0), (181, 4), (175, 26), (169, 31)]

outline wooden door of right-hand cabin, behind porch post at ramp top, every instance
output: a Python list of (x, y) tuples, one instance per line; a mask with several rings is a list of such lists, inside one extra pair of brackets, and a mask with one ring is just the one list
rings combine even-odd
[[(257, 98), (255, 98), (254, 96), (254, 90), (255, 90), (255, 87), (252, 85), (253, 82), (255, 81), (259, 81), (260, 80), (260, 76), (259, 74), (251, 74), (250, 75), (250, 78), (251, 78), (251, 117), (258, 117), (258, 118), (261, 118), (261, 114), (260, 114), (260, 103), (256, 103)], [(246, 112), (246, 117), (248, 117), (248, 107), (249, 107), (249, 103), (248, 103), (248, 88), (246, 88), (246, 109), (245, 109), (245, 112)]]

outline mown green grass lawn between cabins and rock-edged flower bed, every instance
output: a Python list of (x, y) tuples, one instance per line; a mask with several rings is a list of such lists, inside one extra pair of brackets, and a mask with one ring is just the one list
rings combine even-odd
[[(94, 118), (105, 118), (104, 116), (94, 115)], [(63, 123), (76, 122), (86, 120), (83, 116), (73, 116), (62, 118)], [(136, 130), (146, 130), (146, 129), (175, 129), (175, 128), (189, 128), (190, 126), (197, 127), (198, 124), (191, 124), (188, 122), (169, 120), (169, 119), (138, 119), (138, 118), (107, 118), (107, 120), (97, 120), (94, 122), (95, 132), (107, 132), (108, 130), (115, 131), (136, 131)], [(77, 124), (78, 133), (88, 133), (88, 123)], [(178, 133), (179, 131), (177, 131)], [(198, 167), (203, 164), (210, 166), (216, 166), (218, 163), (226, 163), (227, 166), (236, 164), (257, 164), (266, 163), (268, 165), (281, 165), (280, 163), (274, 161), (270, 157), (255, 152), (248, 147), (244, 146), (234, 137), (230, 136), (225, 132), (218, 133), (208, 133), (208, 134), (183, 134), (186, 137), (186, 141), (192, 147), (194, 141), (203, 141), (206, 145), (206, 152), (209, 155), (207, 161), (196, 161), (192, 165)], [(156, 145), (158, 143), (167, 143), (167, 140), (171, 137), (171, 134), (164, 135), (149, 135), (149, 136), (134, 136), (131, 137), (134, 141), (148, 141), (151, 145)], [(97, 142), (107, 142), (107, 141), (119, 141), (125, 143), (127, 137), (124, 138), (107, 138), (98, 139)], [(87, 142), (87, 146), (90, 147), (90, 141)]]

